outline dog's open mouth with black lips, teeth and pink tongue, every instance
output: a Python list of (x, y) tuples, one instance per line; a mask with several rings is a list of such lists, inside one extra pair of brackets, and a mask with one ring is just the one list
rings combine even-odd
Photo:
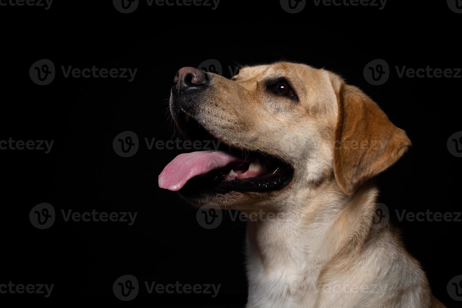
[(267, 192), (281, 189), (292, 180), (292, 167), (278, 157), (225, 145), (182, 111), (176, 115), (176, 124), (186, 139), (210, 140), (219, 147), (175, 157), (159, 175), (161, 188), (185, 194)]

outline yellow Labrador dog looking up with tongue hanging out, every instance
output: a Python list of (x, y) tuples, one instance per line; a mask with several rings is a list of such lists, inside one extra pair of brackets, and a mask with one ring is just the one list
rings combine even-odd
[(174, 158), (159, 187), (260, 213), (247, 223), (248, 308), (444, 307), (380, 222), (371, 183), (411, 142), (359, 88), (298, 63), (231, 79), (183, 67), (170, 111), (186, 138), (221, 144)]

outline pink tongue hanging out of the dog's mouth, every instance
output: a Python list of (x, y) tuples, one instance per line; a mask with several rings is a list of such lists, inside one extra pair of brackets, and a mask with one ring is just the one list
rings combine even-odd
[(180, 190), (188, 180), (196, 175), (203, 175), (238, 161), (244, 161), (244, 159), (224, 151), (183, 153), (165, 166), (159, 175), (159, 187), (173, 191)]

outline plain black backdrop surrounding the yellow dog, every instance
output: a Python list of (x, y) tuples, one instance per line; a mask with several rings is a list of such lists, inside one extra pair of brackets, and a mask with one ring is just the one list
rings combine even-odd
[[(96, 3), (99, 2), (99, 3)], [(395, 66), (461, 67), (462, 14), (446, 1), (389, 0), (371, 6), (315, 6), (297, 14), (279, 1), (221, 0), (204, 6), (147, 6), (122, 14), (111, 1), (54, 1), (43, 7), (0, 6), (0, 140), (54, 140), (49, 154), (1, 150), (0, 284), (55, 284), (49, 298), (0, 294), (1, 302), (52, 306), (104, 304), (150, 307), (243, 307), (245, 223), (227, 215), (213, 230), (196, 210), (161, 190), (157, 176), (177, 150), (148, 150), (144, 138), (178, 137), (168, 119), (176, 71), (217, 59), (228, 66), (292, 60), (325, 67), (359, 86), (406, 130), (413, 147), (377, 177), (379, 202), (402, 230), (407, 249), (448, 307), (449, 280), (462, 274), (461, 222), (398, 221), (395, 210), (459, 212), (461, 159), (446, 142), (461, 130), (457, 78), (399, 78)], [(29, 76), (37, 60), (52, 60), (56, 77), (39, 86)], [(384, 85), (363, 76), (374, 59), (388, 62)], [(61, 66), (138, 68), (127, 79), (64, 78)], [(133, 131), (140, 149), (118, 156), (115, 136)], [(29, 221), (48, 202), (58, 213), (49, 229)], [(138, 212), (122, 222), (64, 222), (67, 211)], [(142, 284), (131, 302), (119, 301), (114, 281), (126, 274)], [(146, 294), (144, 281), (221, 284), (219, 295)], [(209, 306), (207, 306), (209, 305)], [(3, 305), (2, 305), (3, 306)]]

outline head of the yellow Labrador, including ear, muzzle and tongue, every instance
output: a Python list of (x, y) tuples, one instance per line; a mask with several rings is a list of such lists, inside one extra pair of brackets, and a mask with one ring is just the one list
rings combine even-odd
[(231, 79), (184, 67), (170, 111), (186, 138), (221, 142), (159, 175), (160, 187), (196, 204), (269, 204), (323, 181), (351, 196), (410, 146), (357, 87), (303, 64), (243, 67)]

